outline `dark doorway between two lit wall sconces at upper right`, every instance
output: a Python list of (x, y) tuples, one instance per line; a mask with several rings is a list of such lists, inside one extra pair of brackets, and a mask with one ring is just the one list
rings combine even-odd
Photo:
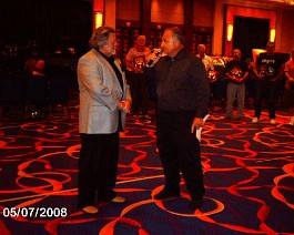
[(264, 49), (270, 35), (270, 20), (234, 18), (233, 48), (242, 51), (244, 60), (252, 60), (252, 49)]

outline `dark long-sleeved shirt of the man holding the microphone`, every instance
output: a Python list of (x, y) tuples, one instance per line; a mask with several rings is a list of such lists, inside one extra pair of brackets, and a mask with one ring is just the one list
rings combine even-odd
[(161, 58), (153, 72), (159, 111), (195, 111), (196, 117), (206, 114), (210, 84), (199, 58), (183, 49), (174, 58)]

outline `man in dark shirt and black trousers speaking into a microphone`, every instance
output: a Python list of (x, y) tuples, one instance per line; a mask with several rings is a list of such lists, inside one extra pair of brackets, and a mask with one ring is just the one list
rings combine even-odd
[[(190, 207), (201, 206), (204, 196), (200, 143), (195, 131), (203, 126), (210, 85), (201, 60), (184, 49), (182, 32), (168, 28), (162, 37), (161, 57), (153, 68), (158, 92), (156, 143), (165, 185), (155, 200), (180, 196), (182, 172), (191, 196)], [(156, 55), (151, 55), (156, 59)], [(155, 60), (156, 61), (156, 60)]]

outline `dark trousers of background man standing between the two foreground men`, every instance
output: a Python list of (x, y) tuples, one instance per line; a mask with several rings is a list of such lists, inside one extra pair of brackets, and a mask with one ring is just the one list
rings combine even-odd
[(150, 96), (146, 76), (144, 73), (128, 72), (128, 83), (131, 88), (133, 113), (136, 114), (141, 110), (143, 114), (146, 114)]

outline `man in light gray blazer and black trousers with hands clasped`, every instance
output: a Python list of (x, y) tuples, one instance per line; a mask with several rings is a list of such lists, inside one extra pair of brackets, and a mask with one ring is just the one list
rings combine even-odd
[(80, 58), (79, 132), (81, 153), (78, 176), (78, 206), (89, 214), (98, 213), (95, 198), (123, 203), (113, 187), (119, 161), (119, 132), (131, 109), (131, 94), (124, 72), (115, 59), (115, 32), (98, 28), (90, 39), (91, 50)]

